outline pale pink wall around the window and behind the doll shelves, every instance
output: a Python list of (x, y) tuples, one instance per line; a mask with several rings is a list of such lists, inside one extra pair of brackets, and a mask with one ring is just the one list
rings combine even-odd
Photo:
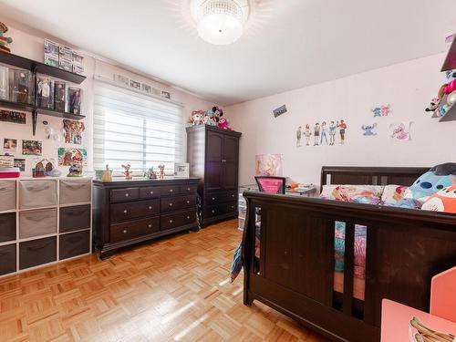
[[(11, 46), (12, 52), (16, 55), (28, 57), (38, 61), (44, 60), (44, 37), (45, 36), (36, 36), (31, 35), (25, 31), (15, 29), (14, 27), (9, 26), (10, 30), (8, 31), (8, 36), (12, 36), (14, 42)], [(57, 43), (57, 39), (52, 36), (47, 36)], [(163, 85), (159, 82), (156, 82), (150, 78), (142, 77), (133, 72), (130, 72), (122, 66), (115, 66), (113, 62), (107, 61), (101, 57), (94, 56), (89, 52), (85, 52), (78, 47), (74, 47), (77, 50), (82, 52), (82, 55), (85, 56), (84, 67), (85, 67), (85, 76), (87, 79), (82, 83), (81, 88), (83, 89), (83, 99), (82, 99), (82, 113), (87, 116), (85, 119), (86, 131), (83, 138), (82, 147), (88, 149), (88, 167), (87, 171), (92, 169), (92, 121), (93, 121), (93, 85), (94, 85), (94, 76), (101, 76), (103, 78), (113, 78), (114, 73), (125, 75), (136, 80), (147, 82), (150, 86), (159, 88), (162, 90), (169, 91), (171, 93), (171, 98), (175, 101), (182, 103), (182, 115), (184, 121), (189, 117), (189, 113), (192, 109), (207, 109), (212, 107), (212, 103), (192, 96), (191, 94), (178, 90), (176, 88), (171, 88), (169, 86)], [(101, 61), (103, 59), (104, 61)], [(43, 158), (54, 158), (57, 160), (57, 148), (58, 147), (81, 147), (81, 145), (69, 145), (64, 144), (55, 140), (47, 140), (45, 136), (45, 126), (43, 125), (43, 120), (49, 122), (49, 126), (52, 127), (55, 131), (58, 131), (61, 134), (63, 129), (62, 119), (57, 119), (53, 117), (48, 117), (44, 115), (38, 115), (38, 124), (36, 129), (36, 136), (32, 135), (32, 125), (31, 125), (31, 115), (27, 115), (27, 124), (18, 125), (7, 122), (0, 122), (0, 153), (3, 149), (3, 140), (4, 138), (17, 139), (18, 144), (21, 144), (21, 140), (40, 140), (43, 142)], [(182, 126), (184, 130), (184, 126)], [(185, 135), (184, 135), (185, 136)], [(186, 150), (186, 149), (184, 149)], [(25, 158), (26, 159), (26, 175), (30, 174), (32, 164), (36, 162), (38, 157), (32, 156), (22, 156), (21, 148), (18, 147), (16, 152), (16, 158)], [(67, 172), (67, 167), (62, 168), (61, 171)]]

